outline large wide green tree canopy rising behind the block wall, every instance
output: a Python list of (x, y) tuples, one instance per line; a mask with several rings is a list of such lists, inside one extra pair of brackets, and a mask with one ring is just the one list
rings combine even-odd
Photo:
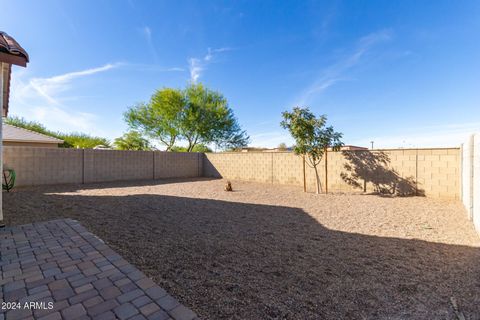
[(201, 84), (191, 84), (184, 90), (158, 90), (149, 103), (129, 108), (124, 118), (132, 129), (162, 142), (167, 151), (178, 140), (187, 142), (188, 152), (200, 144), (227, 149), (245, 146), (249, 141), (227, 99)]

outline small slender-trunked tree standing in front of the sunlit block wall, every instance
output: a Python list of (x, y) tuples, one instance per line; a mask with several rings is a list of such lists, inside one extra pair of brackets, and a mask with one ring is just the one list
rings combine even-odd
[(327, 127), (327, 117), (316, 118), (308, 108), (293, 108), (292, 112), (282, 113), (282, 128), (287, 129), (295, 139), (295, 154), (301, 155), (304, 161), (315, 170), (317, 193), (321, 184), (318, 175), (318, 164), (328, 148), (337, 151), (343, 145), (342, 134), (335, 132), (332, 126)]

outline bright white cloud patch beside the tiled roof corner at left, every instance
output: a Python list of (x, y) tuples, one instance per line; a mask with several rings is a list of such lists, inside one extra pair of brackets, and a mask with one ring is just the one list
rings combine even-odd
[(28, 120), (39, 121), (54, 130), (80, 130), (98, 132), (96, 116), (79, 112), (65, 105), (76, 97), (66, 94), (74, 87), (76, 79), (90, 77), (114, 69), (119, 64), (69, 72), (48, 78), (27, 78), (26, 72), (16, 72), (12, 77), (12, 111)]

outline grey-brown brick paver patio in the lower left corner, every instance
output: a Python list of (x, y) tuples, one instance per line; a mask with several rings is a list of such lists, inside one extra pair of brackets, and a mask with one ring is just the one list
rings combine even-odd
[(0, 319), (197, 319), (71, 219), (0, 230), (0, 270)]

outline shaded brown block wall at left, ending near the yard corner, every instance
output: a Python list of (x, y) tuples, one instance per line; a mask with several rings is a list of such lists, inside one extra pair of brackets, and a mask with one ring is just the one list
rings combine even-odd
[(4, 146), (17, 186), (190, 178), (202, 175), (201, 153)]

